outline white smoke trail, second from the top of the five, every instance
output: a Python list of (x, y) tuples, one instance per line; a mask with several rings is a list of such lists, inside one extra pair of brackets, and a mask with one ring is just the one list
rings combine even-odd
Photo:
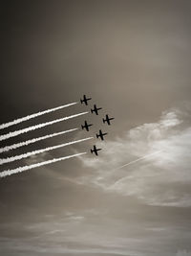
[(81, 112), (79, 114), (74, 114), (74, 115), (71, 115), (71, 116), (66, 116), (66, 117), (63, 117), (63, 118), (55, 119), (53, 121), (42, 123), (42, 124), (39, 124), (39, 125), (35, 125), (35, 126), (29, 127), (29, 128), (18, 129), (18, 130), (12, 131), (10, 133), (1, 135), (0, 136), (0, 141), (7, 140), (11, 137), (18, 136), (21, 133), (25, 133), (25, 132), (34, 130), (36, 128), (44, 128), (44, 127), (47, 127), (47, 126), (51, 126), (55, 123), (62, 122), (62, 121), (65, 121), (65, 120), (68, 120), (68, 119), (71, 119), (71, 118), (74, 118), (74, 117), (77, 117), (77, 116), (85, 115), (85, 114), (88, 114), (88, 113), (89, 113), (88, 111), (87, 112)]

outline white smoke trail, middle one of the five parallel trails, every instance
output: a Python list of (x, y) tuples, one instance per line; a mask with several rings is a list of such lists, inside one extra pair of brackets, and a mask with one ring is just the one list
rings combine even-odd
[(71, 129), (68, 129), (68, 130), (64, 130), (64, 131), (60, 131), (60, 132), (55, 132), (53, 134), (45, 135), (43, 137), (33, 138), (31, 140), (27, 140), (27, 141), (23, 141), (23, 142), (20, 142), (20, 143), (16, 143), (16, 144), (13, 144), (11, 146), (6, 146), (4, 148), (0, 148), (0, 153), (1, 152), (15, 150), (15, 149), (21, 148), (23, 146), (28, 146), (28, 145), (30, 145), (32, 143), (37, 142), (37, 141), (41, 141), (41, 140), (45, 140), (45, 139), (48, 139), (48, 138), (52, 138), (54, 136), (58, 136), (58, 135), (61, 135), (61, 134), (64, 134), (64, 133), (68, 133), (68, 132), (74, 131), (76, 129), (78, 129), (78, 128), (71, 128)]

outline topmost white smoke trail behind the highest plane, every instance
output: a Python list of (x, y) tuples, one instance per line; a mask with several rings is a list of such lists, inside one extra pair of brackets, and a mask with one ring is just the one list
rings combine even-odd
[(18, 118), (16, 120), (13, 120), (13, 121), (11, 121), (9, 123), (0, 125), (0, 129), (2, 129), (2, 128), (9, 128), (9, 127), (17, 125), (19, 123), (28, 121), (28, 120), (30, 120), (30, 119), (32, 119), (34, 117), (41, 116), (41, 115), (44, 115), (44, 114), (48, 114), (48, 113), (51, 113), (51, 112), (56, 111), (58, 109), (61, 109), (61, 108), (64, 108), (64, 107), (67, 107), (67, 106), (70, 106), (70, 105), (75, 105), (75, 104), (78, 104), (78, 103), (72, 103), (72, 104), (67, 104), (67, 105), (60, 105), (60, 106), (57, 106), (57, 107), (54, 107), (54, 108), (47, 109), (45, 111), (41, 111), (41, 112), (34, 113), (32, 115), (21, 117), (21, 118)]

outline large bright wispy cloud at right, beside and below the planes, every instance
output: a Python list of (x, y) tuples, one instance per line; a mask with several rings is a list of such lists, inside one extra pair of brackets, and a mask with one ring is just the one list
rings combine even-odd
[[(188, 103), (171, 108), (158, 122), (132, 128), (102, 144), (100, 157), (80, 157), (93, 172), (76, 181), (101, 187), (105, 192), (133, 196), (150, 205), (191, 206), (190, 113)], [(118, 170), (149, 154), (153, 155)]]

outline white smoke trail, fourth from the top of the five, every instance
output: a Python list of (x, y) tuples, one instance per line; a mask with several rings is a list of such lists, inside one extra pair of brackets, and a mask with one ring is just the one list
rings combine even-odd
[(72, 144), (75, 144), (75, 143), (79, 143), (79, 142), (83, 142), (83, 141), (91, 140), (91, 139), (94, 139), (94, 137), (89, 137), (89, 138), (85, 138), (85, 139), (81, 139), (81, 140), (75, 140), (75, 141), (67, 142), (67, 143), (64, 143), (64, 144), (56, 145), (56, 146), (53, 146), (53, 147), (41, 149), (41, 150), (38, 150), (38, 151), (30, 151), (30, 152), (26, 152), (26, 153), (23, 153), (23, 154), (18, 154), (18, 155), (11, 156), (11, 157), (8, 157), (8, 158), (2, 158), (2, 159), (0, 159), (0, 165), (3, 165), (5, 163), (11, 163), (11, 162), (16, 161), (16, 160), (21, 160), (23, 158), (32, 156), (33, 154), (46, 152), (46, 151), (53, 151), (55, 149), (59, 149), (59, 148), (62, 148), (62, 147), (66, 147), (66, 146), (69, 146), (69, 145), (72, 145)]

